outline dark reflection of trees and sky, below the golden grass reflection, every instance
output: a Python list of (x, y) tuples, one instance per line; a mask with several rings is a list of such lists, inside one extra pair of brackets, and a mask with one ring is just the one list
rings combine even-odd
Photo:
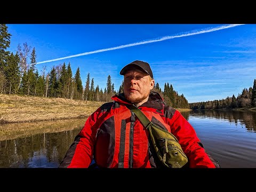
[(80, 130), (0, 141), (0, 167), (58, 167)]

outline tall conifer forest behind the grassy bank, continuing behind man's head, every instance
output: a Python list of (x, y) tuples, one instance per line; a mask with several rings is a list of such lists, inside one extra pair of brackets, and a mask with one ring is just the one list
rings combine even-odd
[[(111, 77), (108, 75), (104, 90), (95, 86), (94, 78), (87, 74), (85, 86), (82, 85), (79, 67), (75, 75), (70, 67), (70, 62), (53, 66), (49, 73), (46, 66), (41, 74), (36, 69), (35, 47), (24, 43), (18, 44), (17, 52), (6, 51), (10, 47), (11, 34), (7, 26), (0, 24), (0, 93), (34, 95), (39, 97), (55, 97), (78, 100), (109, 102), (114, 94), (123, 92), (123, 82), (116, 91)], [(175, 108), (189, 108), (184, 95), (179, 95), (173, 90), (172, 85), (165, 83), (164, 91), (156, 83), (154, 91), (161, 94), (165, 102)]]

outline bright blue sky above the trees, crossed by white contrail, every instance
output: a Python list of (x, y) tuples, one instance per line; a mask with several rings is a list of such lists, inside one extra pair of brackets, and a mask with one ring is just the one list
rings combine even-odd
[(85, 84), (104, 90), (110, 75), (118, 91), (119, 71), (134, 60), (150, 64), (162, 90), (172, 84), (189, 103), (237, 97), (256, 78), (256, 25), (232, 24), (7, 24), (8, 51), (27, 43), (36, 68), (70, 62)]

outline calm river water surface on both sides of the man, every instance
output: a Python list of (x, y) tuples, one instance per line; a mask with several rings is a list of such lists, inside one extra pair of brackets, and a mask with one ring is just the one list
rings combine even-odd
[[(256, 167), (256, 111), (182, 115), (222, 168)], [(58, 167), (85, 120), (0, 125), (0, 168)]]

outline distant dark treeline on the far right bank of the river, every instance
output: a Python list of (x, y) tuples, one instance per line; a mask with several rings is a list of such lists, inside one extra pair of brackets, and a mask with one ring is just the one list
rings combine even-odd
[(206, 102), (189, 103), (190, 109), (223, 109), (223, 108), (253, 108), (256, 107), (256, 79), (253, 81), (253, 87), (243, 89), (242, 93), (238, 93), (237, 97), (213, 100)]

